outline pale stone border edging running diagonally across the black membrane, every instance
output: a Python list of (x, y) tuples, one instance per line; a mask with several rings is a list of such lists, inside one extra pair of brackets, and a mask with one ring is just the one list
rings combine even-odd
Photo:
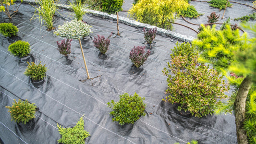
[[(17, 0), (17, 1), (21, 1), (21, 0)], [(30, 3), (37, 4), (36, 0), (23, 0), (23, 2), (24, 3), (29, 3), (29, 4)], [(64, 9), (69, 9), (70, 8), (68, 5), (65, 5), (65, 4), (57, 4), (57, 7), (61, 7), (61, 8), (64, 8)], [(108, 14), (106, 12), (98, 12), (98, 11), (89, 10), (89, 9), (86, 9), (85, 11), (91, 13), (94, 16), (116, 20), (116, 15), (114, 15), (114, 14)], [(125, 18), (125, 17), (122, 17), (122, 16), (119, 16), (119, 22), (121, 22), (123, 24), (133, 26), (133, 27), (141, 27), (141, 28), (146, 27), (147, 29), (157, 27), (157, 26), (150, 25), (150, 24), (140, 23), (140, 22), (137, 22), (135, 20), (131, 20), (129, 18)], [(157, 27), (157, 31), (158, 31), (158, 34), (170, 36), (172, 38), (178, 39), (178, 40), (183, 41), (183, 42), (191, 42), (195, 38), (193, 36), (181, 35), (179, 33), (173, 32), (171, 30), (166, 30), (166, 29), (159, 28), (159, 27)]]

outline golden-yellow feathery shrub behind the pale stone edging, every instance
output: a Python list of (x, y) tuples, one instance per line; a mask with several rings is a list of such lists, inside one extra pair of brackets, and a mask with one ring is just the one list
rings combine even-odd
[(176, 17), (189, 6), (185, 0), (139, 0), (129, 16), (141, 23), (172, 29)]

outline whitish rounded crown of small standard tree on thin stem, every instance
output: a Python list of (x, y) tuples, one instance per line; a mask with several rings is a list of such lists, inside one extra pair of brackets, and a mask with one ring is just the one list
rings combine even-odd
[(80, 39), (82, 37), (88, 36), (92, 33), (89, 24), (84, 22), (72, 20), (70, 22), (64, 23), (58, 26), (58, 30), (54, 32), (57, 36), (67, 37), (69, 39)]

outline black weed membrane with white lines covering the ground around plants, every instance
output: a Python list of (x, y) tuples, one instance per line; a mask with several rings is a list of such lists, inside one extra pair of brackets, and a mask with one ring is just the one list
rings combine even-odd
[[(132, 2), (126, 1), (125, 5)], [(207, 14), (219, 11), (206, 7), (208, 3), (191, 3), (198, 12), (205, 13), (197, 19), (190, 19), (193, 23), (207, 22)], [(73, 19), (69, 10), (58, 11), (60, 14), (56, 13), (54, 26)], [(162, 70), (171, 60), (170, 52), (176, 46), (176, 39), (157, 35), (152, 47), (149, 47), (142, 28), (121, 23), (121, 36), (114, 36), (115, 20), (86, 14), (83, 21), (92, 26), (93, 33), (81, 39), (92, 78), (85, 80), (87, 75), (78, 40), (71, 42), (71, 54), (62, 56), (56, 42), (64, 38), (47, 31), (38, 19), (30, 20), (34, 12), (33, 6), (23, 3), (11, 20), (2, 12), (0, 14), (0, 23), (12, 23), (19, 29), (18, 36), (0, 36), (0, 143), (58, 143), (61, 135), (57, 123), (62, 127), (73, 127), (83, 115), (85, 130), (90, 134), (85, 140), (86, 144), (185, 144), (192, 139), (199, 144), (236, 143), (234, 115), (195, 118), (178, 111), (177, 105), (162, 100), (168, 96), (165, 94), (167, 78)], [(227, 9), (226, 17), (235, 18), (242, 13), (249, 12), (244, 11), (244, 6), (234, 5)], [(126, 14), (120, 12), (120, 15)], [(182, 19), (178, 19), (178, 22), (186, 24)], [(93, 45), (93, 38), (97, 35), (107, 37), (111, 32), (110, 48), (105, 55), (100, 54)], [(177, 25), (174, 25), (174, 32), (196, 36), (194, 31)], [(10, 54), (8, 46), (18, 40), (30, 44), (31, 55), (20, 59)], [(134, 46), (146, 46), (151, 51), (140, 69), (134, 67), (129, 59)], [(46, 64), (48, 71), (43, 82), (35, 83), (24, 75), (27, 61)], [(118, 101), (119, 95), (124, 93), (137, 93), (145, 97), (146, 116), (134, 124), (121, 126), (118, 122), (112, 122), (107, 103), (112, 99)], [(11, 121), (5, 106), (12, 106), (13, 99), (27, 99), (35, 103), (38, 107), (36, 118), (25, 125)]]

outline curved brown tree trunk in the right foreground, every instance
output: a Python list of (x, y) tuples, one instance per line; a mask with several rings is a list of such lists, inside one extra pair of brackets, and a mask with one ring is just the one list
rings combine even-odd
[(246, 97), (249, 89), (252, 85), (251, 78), (246, 76), (244, 81), (239, 87), (237, 92), (234, 108), (235, 108), (235, 124), (236, 124), (236, 136), (238, 144), (248, 144), (246, 132), (244, 131), (244, 120), (245, 120), (245, 104)]

